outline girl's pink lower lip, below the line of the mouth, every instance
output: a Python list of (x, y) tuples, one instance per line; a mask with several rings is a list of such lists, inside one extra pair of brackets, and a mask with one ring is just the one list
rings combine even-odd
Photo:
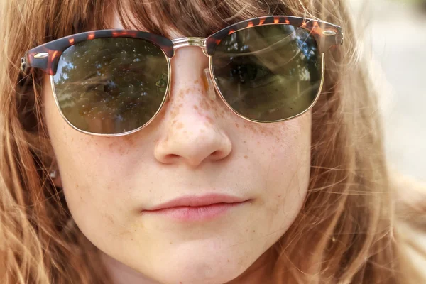
[(228, 212), (229, 209), (240, 207), (245, 203), (246, 201), (237, 203), (217, 203), (202, 207), (173, 207), (154, 211), (143, 211), (142, 214), (165, 216), (180, 222), (207, 221), (219, 217)]

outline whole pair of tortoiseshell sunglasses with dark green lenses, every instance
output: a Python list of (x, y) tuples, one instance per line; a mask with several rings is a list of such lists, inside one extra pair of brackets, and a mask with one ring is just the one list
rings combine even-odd
[(60, 114), (77, 131), (122, 136), (147, 126), (170, 99), (170, 59), (198, 46), (209, 57), (204, 83), (231, 111), (256, 123), (285, 121), (317, 102), (324, 53), (342, 28), (293, 16), (235, 23), (208, 38), (170, 40), (143, 31), (77, 33), (29, 50), (21, 69), (50, 75)]

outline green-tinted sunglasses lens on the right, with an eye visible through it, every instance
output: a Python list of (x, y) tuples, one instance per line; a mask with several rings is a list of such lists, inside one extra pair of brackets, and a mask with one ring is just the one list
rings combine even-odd
[(315, 102), (322, 55), (304, 28), (255, 26), (224, 38), (212, 56), (212, 69), (234, 111), (256, 121), (279, 121)]

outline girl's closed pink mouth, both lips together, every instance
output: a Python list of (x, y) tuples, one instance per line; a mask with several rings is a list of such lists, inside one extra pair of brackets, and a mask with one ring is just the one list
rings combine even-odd
[(231, 195), (184, 196), (142, 210), (144, 216), (168, 217), (178, 222), (207, 221), (223, 216), (251, 200)]

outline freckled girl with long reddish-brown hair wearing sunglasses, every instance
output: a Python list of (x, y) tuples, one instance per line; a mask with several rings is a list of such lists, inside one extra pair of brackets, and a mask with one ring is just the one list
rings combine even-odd
[(425, 283), (344, 0), (1, 5), (1, 283)]

